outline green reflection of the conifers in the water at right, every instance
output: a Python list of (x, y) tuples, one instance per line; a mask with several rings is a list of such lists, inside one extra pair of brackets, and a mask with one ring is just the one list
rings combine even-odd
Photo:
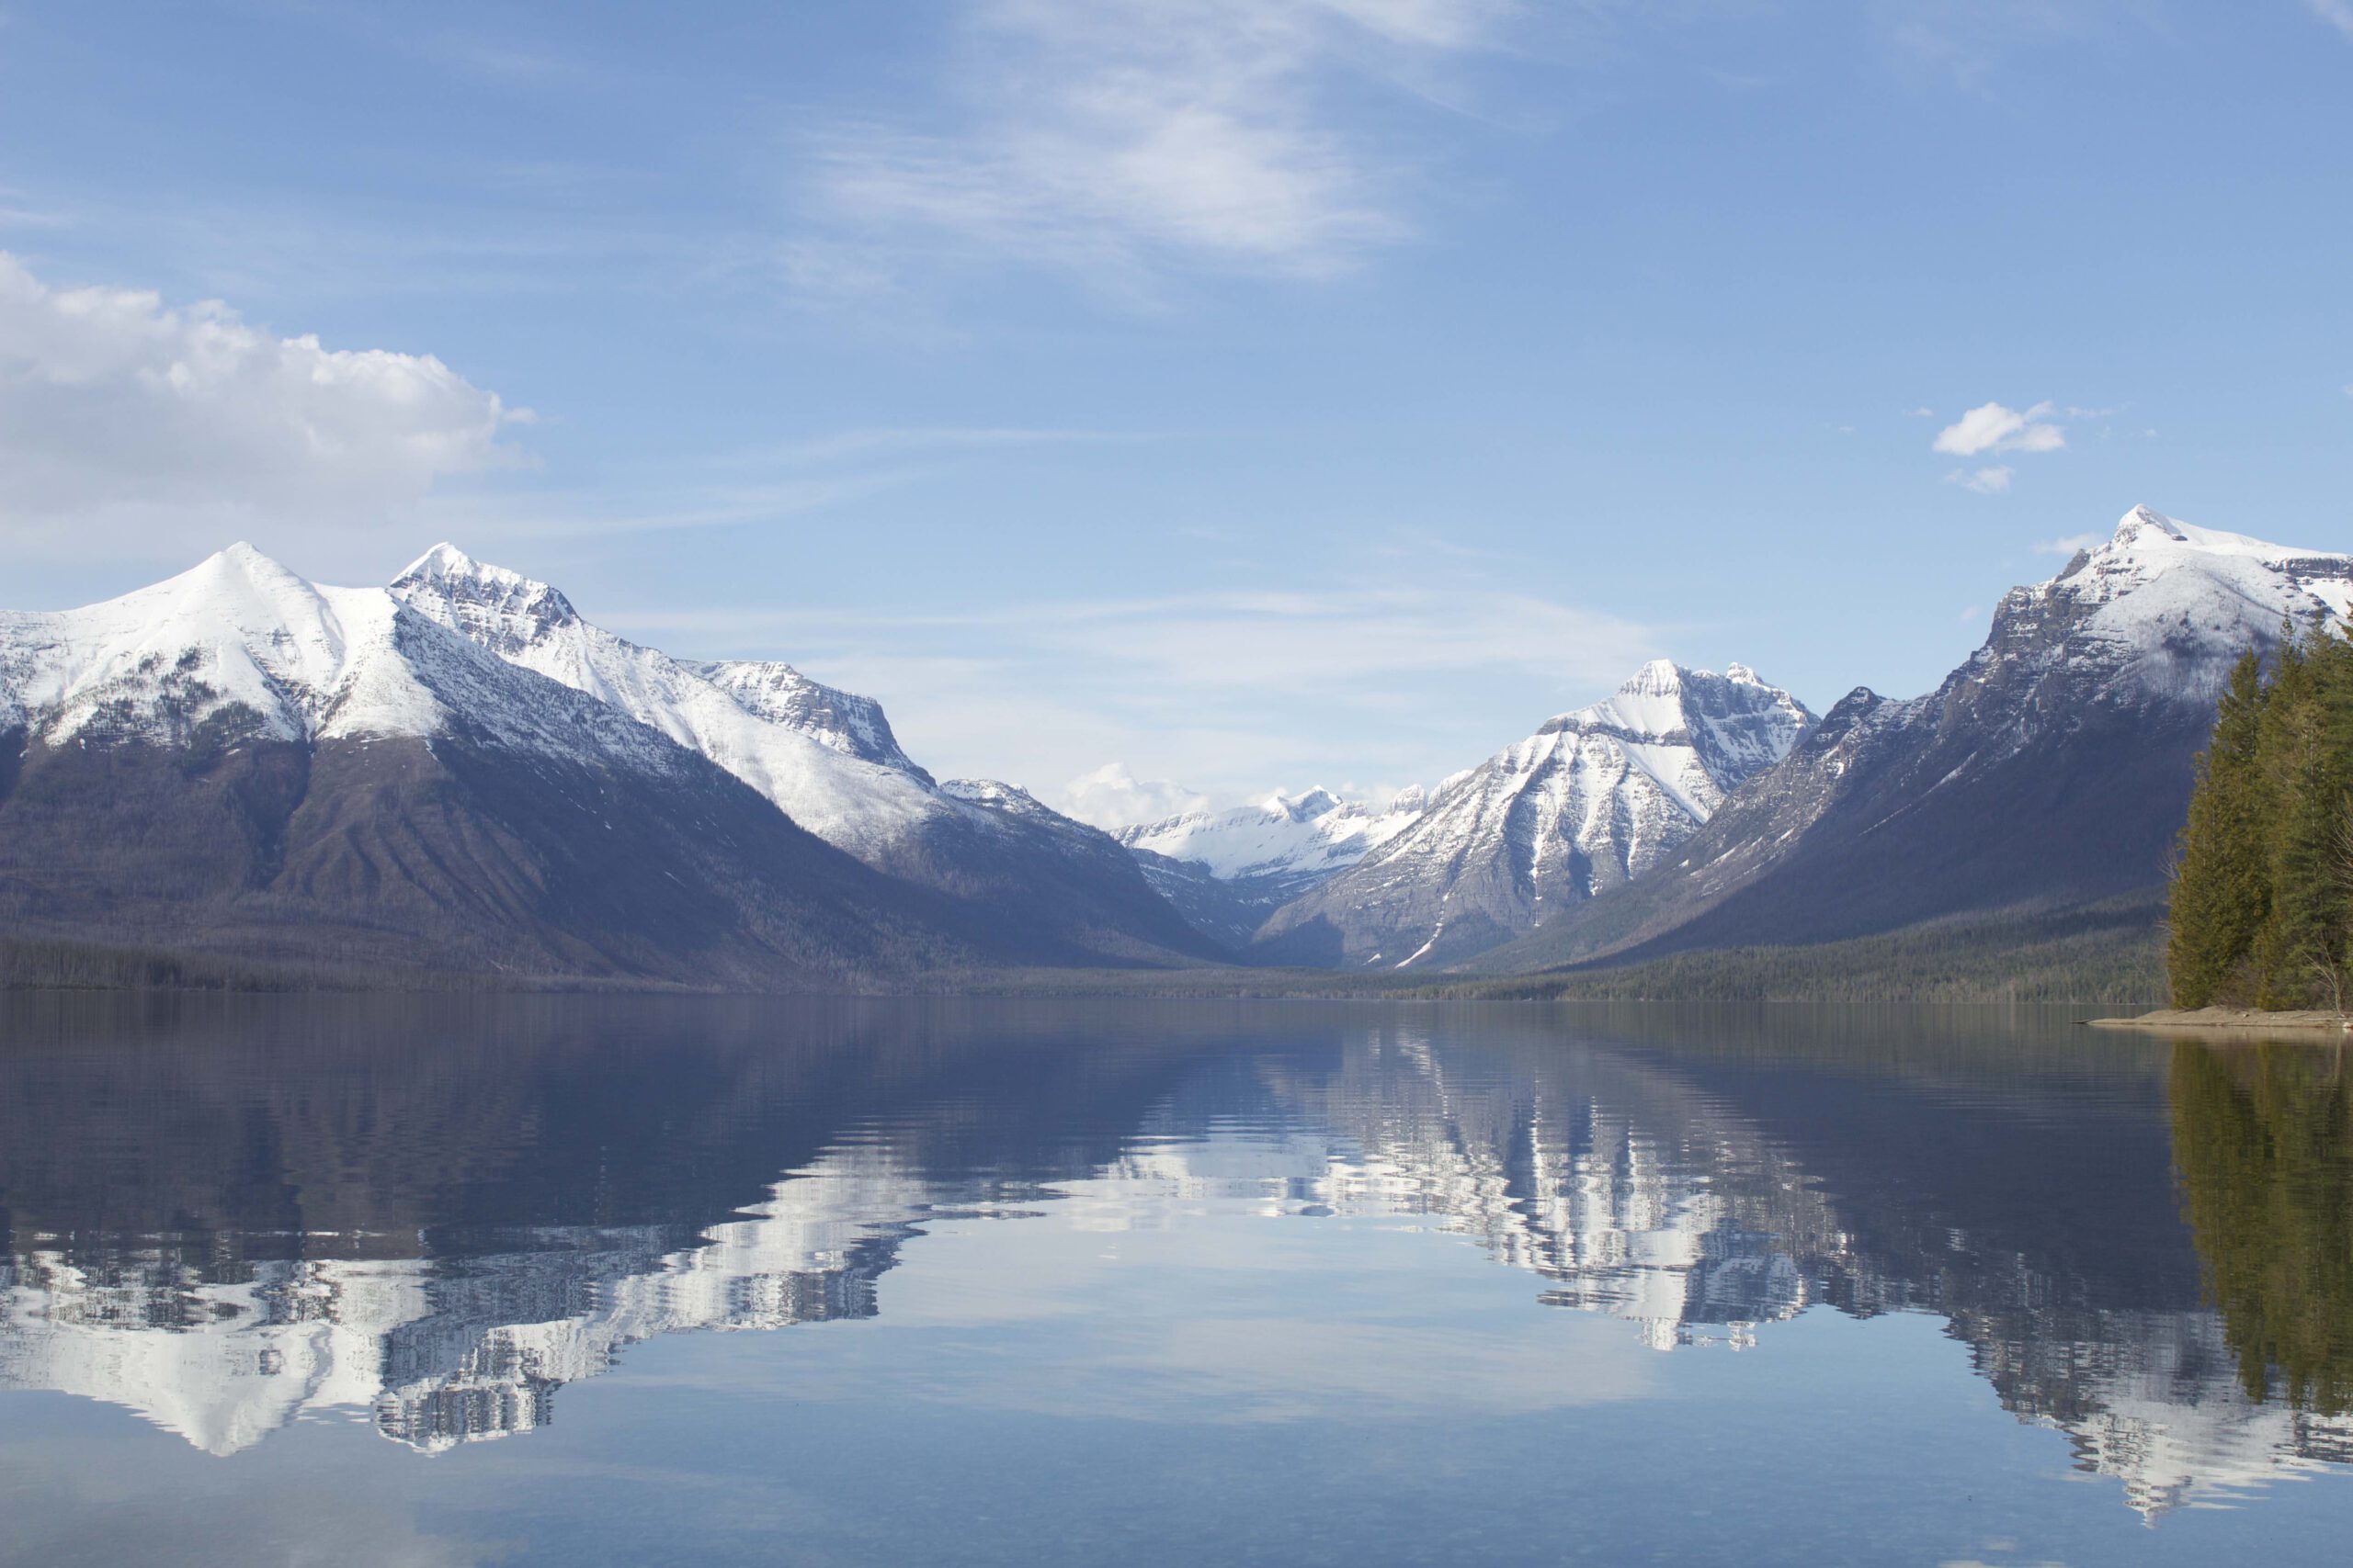
[(2353, 1079), (2346, 1048), (2179, 1044), (2174, 1166), (2240, 1382), (2353, 1410)]

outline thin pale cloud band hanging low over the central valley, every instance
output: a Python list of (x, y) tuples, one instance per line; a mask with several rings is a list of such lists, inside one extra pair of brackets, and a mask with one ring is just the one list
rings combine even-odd
[[(1118, 757), (1136, 778), (1186, 778), (1217, 802), (1273, 780), (1431, 783), (1513, 724), (1534, 729), (1546, 698), (1525, 693), (1586, 701), (1666, 644), (1659, 628), (1508, 585), (1391, 581), (965, 611), (642, 607), (600, 618), (689, 654), (776, 649), (880, 696), (901, 738), (951, 771), (1019, 769), (1014, 783), (1054, 795)], [(1464, 689), (1518, 691), (1527, 710), (1445, 701)], [(1360, 719), (1339, 726), (1341, 743), (1308, 712)]]

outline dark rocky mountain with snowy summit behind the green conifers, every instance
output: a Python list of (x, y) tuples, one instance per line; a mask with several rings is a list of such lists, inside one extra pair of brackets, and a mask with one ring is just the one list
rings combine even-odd
[(1659, 875), (1487, 954), (1548, 969), (1821, 943), (2155, 889), (2231, 663), (2353, 609), (2353, 555), (2134, 508), (2009, 590), (1944, 684), (1840, 698)]

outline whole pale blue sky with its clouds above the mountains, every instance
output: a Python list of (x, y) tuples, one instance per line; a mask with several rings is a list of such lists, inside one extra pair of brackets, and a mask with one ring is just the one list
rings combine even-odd
[(0, 604), (435, 541), (1099, 820), (2353, 548), (2353, 0), (0, 0)]

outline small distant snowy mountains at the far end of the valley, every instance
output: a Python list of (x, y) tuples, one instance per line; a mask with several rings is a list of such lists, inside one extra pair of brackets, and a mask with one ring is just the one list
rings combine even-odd
[(1278, 790), (1257, 806), (1186, 811), (1113, 837), (1195, 929), (1245, 947), (1268, 914), (1405, 832), (1426, 804), (1419, 785), (1386, 806)]

